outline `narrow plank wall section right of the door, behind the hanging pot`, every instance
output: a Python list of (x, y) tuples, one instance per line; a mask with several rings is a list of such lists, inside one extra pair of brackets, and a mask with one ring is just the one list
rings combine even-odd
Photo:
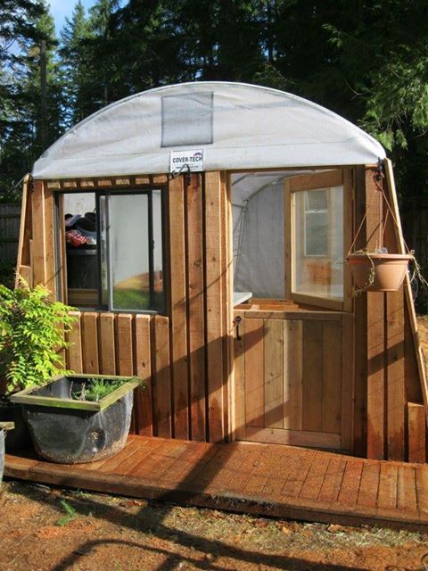
[[(357, 248), (366, 247), (373, 252), (383, 239), (388, 252), (404, 253), (400, 228), (381, 200), (374, 174), (375, 170), (368, 168), (357, 170), (357, 224), (367, 212), (363, 237)], [(390, 176), (380, 184), (399, 221), (393, 179)], [(416, 406), (424, 402), (424, 371), (415, 311), (407, 289), (408, 280), (398, 292), (371, 292), (358, 296), (355, 301), (354, 450), (368, 458), (415, 459), (416, 446), (418, 458), (425, 459), (420, 442), (425, 440), (426, 423)], [(415, 444), (415, 439), (419, 444)]]

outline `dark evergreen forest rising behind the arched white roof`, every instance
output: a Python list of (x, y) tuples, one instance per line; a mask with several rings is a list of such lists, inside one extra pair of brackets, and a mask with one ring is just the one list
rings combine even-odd
[(45, 0), (2, 0), (0, 202), (20, 200), (22, 176), (79, 120), (198, 80), (339, 113), (387, 149), (401, 207), (428, 212), (426, 0), (97, 0), (88, 12), (78, 1), (58, 31)]

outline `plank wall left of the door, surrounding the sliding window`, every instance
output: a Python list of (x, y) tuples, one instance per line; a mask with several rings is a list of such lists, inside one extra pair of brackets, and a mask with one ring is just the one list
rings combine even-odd
[[(165, 316), (81, 311), (70, 334), (76, 372), (138, 375), (138, 434), (222, 442), (230, 434), (228, 378), (233, 317), (228, 309), (232, 247), (226, 175), (28, 181), (24, 186), (18, 271), (53, 295), (64, 284), (55, 262), (54, 193), (164, 186), (167, 194)], [(63, 257), (62, 257), (63, 260)]]

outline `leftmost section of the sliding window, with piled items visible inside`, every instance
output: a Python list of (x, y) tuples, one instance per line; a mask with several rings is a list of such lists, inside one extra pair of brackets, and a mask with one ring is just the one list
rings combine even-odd
[(78, 307), (98, 305), (98, 247), (95, 194), (63, 195), (68, 302)]

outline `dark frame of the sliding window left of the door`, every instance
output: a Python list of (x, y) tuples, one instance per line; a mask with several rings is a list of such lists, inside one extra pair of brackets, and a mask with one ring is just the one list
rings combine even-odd
[[(150, 296), (150, 307), (153, 307), (154, 298), (154, 260), (153, 260), (153, 210), (152, 210), (152, 192), (160, 191), (161, 193), (161, 236), (162, 236), (162, 309), (161, 310), (126, 310), (126, 309), (114, 309), (112, 307), (112, 289), (111, 289), (111, 250), (110, 250), (110, 232), (106, 232), (106, 259), (108, 263), (107, 271), (107, 296), (108, 303), (103, 302), (103, 279), (102, 279), (102, 259), (103, 255), (101, 252), (101, 209), (100, 203), (101, 198), (106, 197), (106, 219), (109, 220), (109, 200), (108, 196), (111, 195), (146, 195), (148, 199), (147, 211), (148, 211), (148, 244), (152, 244), (149, 248), (149, 296)], [(97, 297), (98, 303), (95, 307), (78, 307), (78, 310), (82, 311), (106, 311), (110, 313), (132, 313), (132, 314), (149, 314), (149, 315), (166, 315), (167, 314), (167, 283), (168, 283), (168, 272), (167, 272), (167, 228), (166, 228), (166, 214), (167, 210), (167, 193), (165, 191), (164, 185), (150, 185), (142, 187), (128, 187), (128, 188), (96, 188), (91, 190), (83, 189), (64, 189), (55, 193), (55, 262), (56, 262), (56, 277), (57, 277), (57, 291), (58, 299), (62, 302), (68, 303), (68, 287), (67, 287), (67, 253), (66, 253), (66, 242), (65, 242), (65, 226), (64, 226), (64, 212), (63, 212), (63, 196), (65, 194), (93, 194), (95, 198), (95, 217), (96, 217), (96, 234), (97, 234), (97, 245), (99, 247), (96, 251), (97, 257)]]

